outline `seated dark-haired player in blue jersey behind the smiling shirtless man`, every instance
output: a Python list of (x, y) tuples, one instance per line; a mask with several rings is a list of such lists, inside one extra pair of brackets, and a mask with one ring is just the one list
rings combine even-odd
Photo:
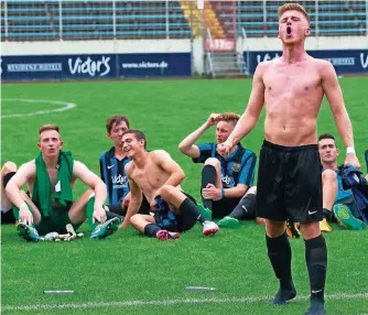
[[(121, 146), (121, 134), (129, 129), (129, 120), (125, 115), (113, 115), (106, 121), (107, 137), (113, 146), (104, 151), (99, 156), (101, 180), (107, 186), (109, 205), (108, 218), (117, 214), (120, 220), (127, 213), (130, 202), (130, 189), (126, 174), (126, 165), (131, 160)], [(139, 213), (149, 214), (150, 205), (143, 198)]]

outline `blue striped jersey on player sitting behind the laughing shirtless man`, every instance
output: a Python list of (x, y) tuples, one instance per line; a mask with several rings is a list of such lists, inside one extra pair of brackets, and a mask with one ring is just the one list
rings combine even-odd
[(121, 161), (115, 156), (115, 148), (105, 151), (99, 156), (101, 180), (107, 186), (109, 204), (120, 205), (129, 193), (129, 183), (126, 174), (126, 165), (131, 159), (125, 158)]

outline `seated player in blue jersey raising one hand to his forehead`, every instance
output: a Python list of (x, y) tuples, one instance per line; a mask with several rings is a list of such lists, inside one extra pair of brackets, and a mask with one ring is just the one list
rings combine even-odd
[[(240, 143), (226, 158), (216, 151), (217, 144), (227, 140), (238, 120), (239, 115), (232, 112), (212, 113), (203, 126), (178, 144), (181, 152), (191, 156), (194, 163), (205, 164), (201, 194), (204, 207), (209, 209), (208, 218), (228, 216), (253, 185), (257, 156), (252, 151)], [(196, 145), (199, 137), (215, 124), (216, 143)], [(256, 214), (250, 217), (255, 219)]]

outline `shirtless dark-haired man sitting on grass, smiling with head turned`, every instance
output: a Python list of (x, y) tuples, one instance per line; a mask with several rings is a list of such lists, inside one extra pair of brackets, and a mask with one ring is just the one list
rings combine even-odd
[[(185, 177), (181, 166), (163, 150), (145, 151), (145, 137), (140, 130), (122, 134), (122, 149), (132, 159), (126, 166), (131, 199), (121, 228), (130, 224), (148, 237), (159, 240), (177, 239), (198, 220), (203, 235), (215, 235), (218, 226), (201, 215), (195, 200), (183, 193), (180, 184)], [(137, 214), (142, 193), (154, 216)]]

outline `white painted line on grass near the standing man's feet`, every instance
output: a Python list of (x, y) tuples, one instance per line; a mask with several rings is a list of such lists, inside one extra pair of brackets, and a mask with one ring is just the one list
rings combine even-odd
[[(97, 307), (129, 307), (144, 305), (176, 305), (176, 304), (204, 304), (204, 303), (258, 303), (271, 301), (272, 296), (243, 296), (243, 297), (209, 297), (209, 298), (183, 298), (183, 300), (152, 300), (152, 301), (119, 301), (119, 302), (87, 302), (67, 304), (33, 304), (33, 305), (3, 305), (4, 311), (35, 311), (35, 309), (62, 309), (62, 308), (97, 308)], [(309, 300), (310, 296), (302, 295), (295, 300)], [(367, 293), (335, 293), (326, 295), (326, 300), (368, 298)]]

